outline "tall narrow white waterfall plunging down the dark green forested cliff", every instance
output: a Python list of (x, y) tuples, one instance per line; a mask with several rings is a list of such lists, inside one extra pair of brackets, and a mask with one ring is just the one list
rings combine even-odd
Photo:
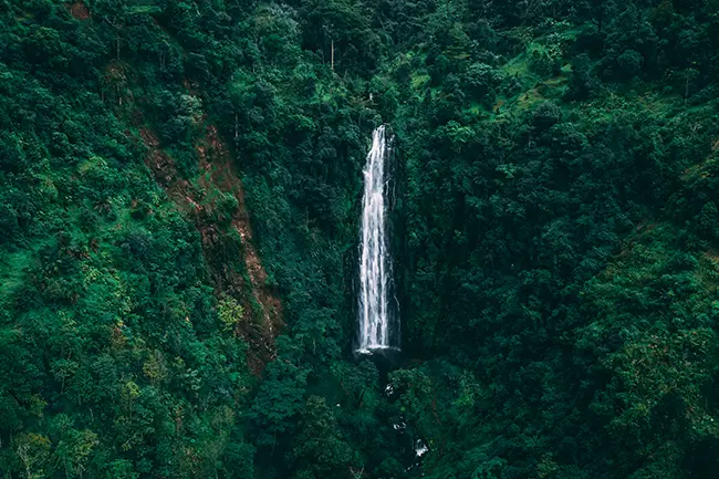
[(399, 319), (390, 308), (392, 257), (387, 249), (386, 157), (392, 137), (385, 126), (372, 133), (372, 149), (364, 169), (359, 257), (359, 337), (357, 352), (399, 350)]

